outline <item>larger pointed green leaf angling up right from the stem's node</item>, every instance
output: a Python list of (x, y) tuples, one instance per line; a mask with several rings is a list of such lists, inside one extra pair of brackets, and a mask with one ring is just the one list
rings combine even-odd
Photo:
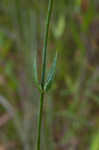
[(52, 82), (54, 80), (55, 72), (56, 72), (56, 62), (57, 62), (57, 52), (56, 52), (56, 55), (54, 57), (51, 69), (48, 73), (47, 80), (45, 82), (45, 86), (44, 86), (45, 91), (48, 91), (52, 86)]

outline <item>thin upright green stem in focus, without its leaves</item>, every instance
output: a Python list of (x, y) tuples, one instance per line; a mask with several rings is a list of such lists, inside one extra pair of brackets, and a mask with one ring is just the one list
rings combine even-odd
[(44, 38), (43, 57), (42, 57), (42, 77), (41, 77), (42, 92), (41, 92), (41, 97), (40, 97), (40, 111), (39, 111), (39, 120), (38, 120), (37, 150), (40, 150), (40, 137), (41, 137), (41, 123), (42, 123), (42, 116), (43, 116), (48, 30), (49, 30), (49, 24), (50, 24), (50, 19), (51, 19), (52, 6), (53, 6), (53, 0), (49, 0), (48, 16), (47, 16), (47, 20), (46, 20), (46, 30), (45, 30), (45, 38)]

